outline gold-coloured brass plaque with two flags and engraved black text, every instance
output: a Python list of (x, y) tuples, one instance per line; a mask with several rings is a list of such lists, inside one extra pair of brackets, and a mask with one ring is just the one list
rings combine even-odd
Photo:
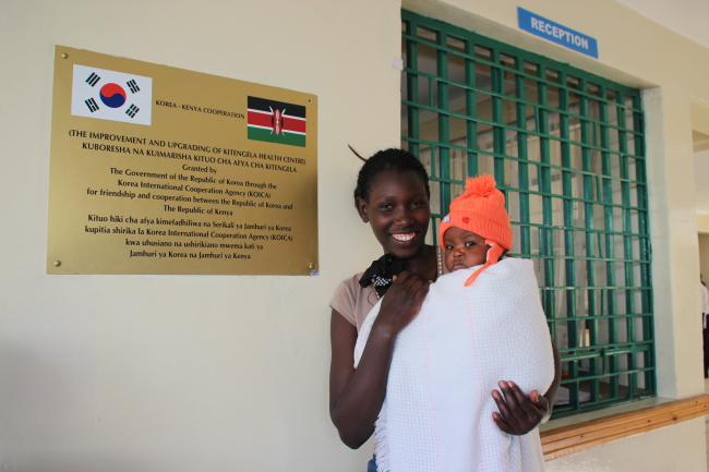
[(48, 274), (317, 271), (317, 97), (57, 46)]

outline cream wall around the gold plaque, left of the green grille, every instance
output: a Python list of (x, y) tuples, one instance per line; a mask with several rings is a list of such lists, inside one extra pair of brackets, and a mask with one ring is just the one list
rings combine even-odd
[[(347, 144), (399, 142), (399, 22), (377, 0), (0, 2), (0, 469), (363, 469), (328, 416), (327, 304), (381, 251)], [(47, 276), (55, 45), (317, 95), (320, 277)]]

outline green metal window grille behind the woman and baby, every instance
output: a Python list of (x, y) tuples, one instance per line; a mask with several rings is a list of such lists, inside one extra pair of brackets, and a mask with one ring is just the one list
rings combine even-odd
[(408, 11), (401, 33), (401, 147), (431, 174), (432, 238), (465, 179), (493, 174), (562, 353), (554, 416), (654, 396), (639, 92)]

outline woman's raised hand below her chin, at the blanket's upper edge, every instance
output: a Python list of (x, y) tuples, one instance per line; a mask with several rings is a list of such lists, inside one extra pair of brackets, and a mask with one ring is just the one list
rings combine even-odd
[(382, 301), (372, 330), (388, 328), (392, 335), (398, 334), (421, 311), (430, 285), (431, 282), (425, 282), (407, 270), (395, 277)]

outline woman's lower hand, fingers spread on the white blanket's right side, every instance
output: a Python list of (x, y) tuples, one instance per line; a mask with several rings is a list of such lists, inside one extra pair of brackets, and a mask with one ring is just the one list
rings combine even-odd
[(497, 427), (507, 434), (524, 435), (532, 431), (550, 412), (549, 400), (537, 390), (525, 396), (513, 382), (500, 382), (500, 389), (492, 390), (492, 398), (497, 403), (500, 413), (492, 413)]

